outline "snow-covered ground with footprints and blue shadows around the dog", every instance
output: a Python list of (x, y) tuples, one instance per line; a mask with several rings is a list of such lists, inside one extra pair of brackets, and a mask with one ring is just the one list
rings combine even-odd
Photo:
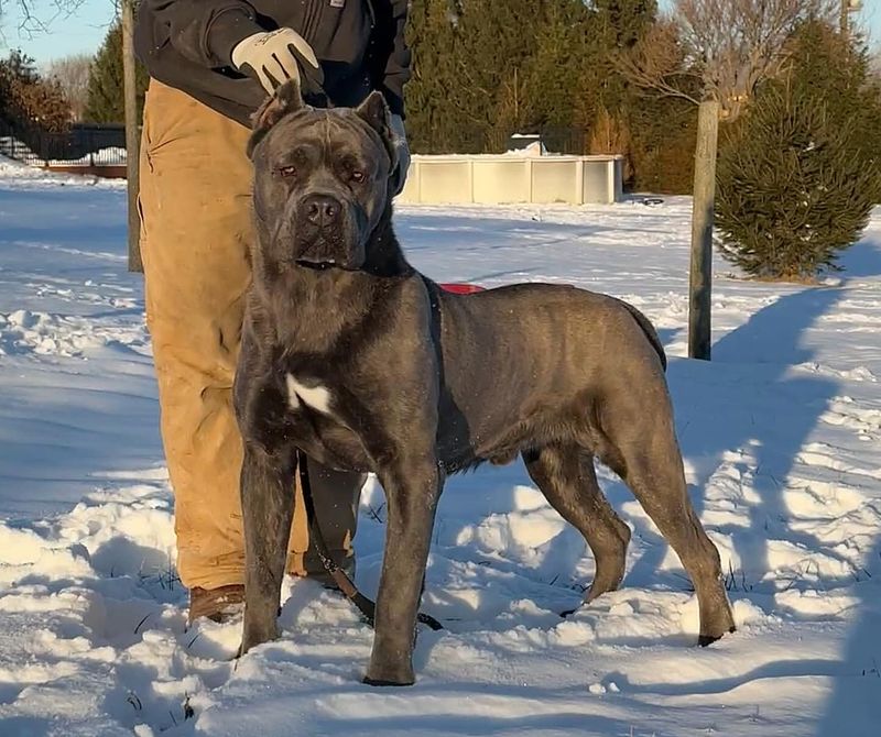
[[(141, 279), (118, 183), (0, 162), (0, 735), (881, 734), (881, 212), (818, 288), (717, 263), (714, 362), (684, 360), (688, 201), (401, 209), (442, 280), (569, 282), (657, 326), (690, 493), (739, 631), (694, 642), (678, 561), (629, 492), (623, 588), (567, 620), (592, 561), (523, 469), (443, 498), (418, 682), (360, 684), (371, 630), (289, 585), (283, 640), (185, 626)], [(185, 243), (181, 248), (186, 248)], [(376, 591), (382, 494), (363, 495)]]

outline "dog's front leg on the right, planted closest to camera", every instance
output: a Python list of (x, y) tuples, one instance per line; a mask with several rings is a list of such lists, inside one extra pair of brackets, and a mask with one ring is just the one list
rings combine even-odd
[(411, 685), (428, 546), (443, 483), (434, 453), (403, 453), (379, 470), (389, 517), (377, 596), (373, 652), (366, 683)]

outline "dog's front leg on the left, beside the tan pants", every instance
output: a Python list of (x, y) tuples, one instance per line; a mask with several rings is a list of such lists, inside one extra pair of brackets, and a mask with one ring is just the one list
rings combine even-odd
[(244, 630), (240, 653), (279, 636), (279, 600), (294, 506), (294, 449), (246, 443), (241, 469), (244, 525)]

